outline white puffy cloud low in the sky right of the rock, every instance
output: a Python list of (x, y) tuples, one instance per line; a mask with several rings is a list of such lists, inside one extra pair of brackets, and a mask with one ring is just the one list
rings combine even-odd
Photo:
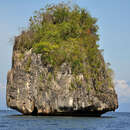
[(130, 102), (130, 85), (125, 80), (116, 80), (115, 87), (119, 98), (119, 102)]

